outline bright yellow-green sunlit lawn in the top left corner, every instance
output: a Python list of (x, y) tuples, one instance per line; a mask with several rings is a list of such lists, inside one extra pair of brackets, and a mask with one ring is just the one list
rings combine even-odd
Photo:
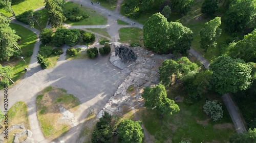
[[(18, 2), (19, 3), (12, 4), (12, 8), (15, 15), (22, 14), (23, 12), (28, 10), (37, 9), (45, 5), (44, 4), (45, 0), (25, 0), (25, 1), (19, 0)], [(3, 14), (5, 14), (8, 17), (12, 16), (11, 13), (7, 13), (3, 8), (0, 9), (0, 12), (3, 12)]]

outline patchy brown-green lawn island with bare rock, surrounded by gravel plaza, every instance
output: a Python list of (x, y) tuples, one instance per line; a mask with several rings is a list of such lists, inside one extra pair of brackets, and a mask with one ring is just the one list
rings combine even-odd
[(55, 139), (65, 134), (70, 128), (69, 121), (62, 121), (60, 107), (65, 107), (71, 113), (78, 109), (79, 99), (67, 94), (65, 89), (47, 87), (36, 97), (38, 121), (44, 136)]

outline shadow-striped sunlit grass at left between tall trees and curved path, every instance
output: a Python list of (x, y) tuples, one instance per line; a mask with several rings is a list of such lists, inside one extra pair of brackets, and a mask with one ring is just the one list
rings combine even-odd
[[(18, 45), (22, 49), (23, 54), (26, 55), (28, 51), (30, 50), (33, 51), (37, 36), (32, 31), (18, 24), (11, 23), (10, 26), (14, 30), (16, 30), (17, 35), (22, 37), (22, 39), (18, 41)], [(11, 61), (15, 63), (15, 65), (11, 66), (13, 70), (13, 76), (11, 77), (11, 79), (14, 82), (22, 78), (22, 76), (25, 74), (24, 68), (28, 67), (30, 59), (31, 59), (31, 56), (25, 56), (24, 60), (27, 63), (25, 63), (23, 60)]]

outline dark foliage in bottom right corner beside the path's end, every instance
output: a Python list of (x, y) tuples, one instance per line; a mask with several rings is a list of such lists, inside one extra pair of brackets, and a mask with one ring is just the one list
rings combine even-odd
[(256, 128), (249, 129), (248, 132), (236, 133), (229, 138), (230, 143), (254, 143), (256, 142)]

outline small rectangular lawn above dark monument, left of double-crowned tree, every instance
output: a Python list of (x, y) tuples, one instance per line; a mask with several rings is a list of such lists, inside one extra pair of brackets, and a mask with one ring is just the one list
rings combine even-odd
[(126, 43), (140, 43), (143, 45), (143, 40), (140, 40), (140, 37), (143, 37), (143, 30), (136, 27), (125, 27), (120, 28), (119, 30), (119, 42)]

